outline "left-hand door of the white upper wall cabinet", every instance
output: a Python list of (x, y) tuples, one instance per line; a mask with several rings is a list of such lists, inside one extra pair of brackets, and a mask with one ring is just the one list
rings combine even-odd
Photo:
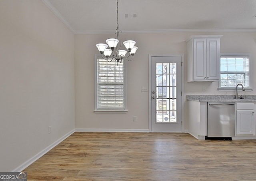
[(193, 40), (193, 79), (205, 80), (206, 78), (206, 39)]

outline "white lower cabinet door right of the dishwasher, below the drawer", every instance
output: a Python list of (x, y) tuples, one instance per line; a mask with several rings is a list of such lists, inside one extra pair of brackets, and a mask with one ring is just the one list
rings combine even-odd
[(253, 110), (237, 110), (236, 135), (255, 135), (255, 121)]

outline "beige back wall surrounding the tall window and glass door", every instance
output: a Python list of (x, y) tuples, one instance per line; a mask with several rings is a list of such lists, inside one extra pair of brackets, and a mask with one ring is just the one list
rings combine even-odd
[[(221, 53), (251, 53), (255, 77), (256, 70), (256, 33), (226, 33), (207, 32), (189, 33), (176, 32), (165, 34), (120, 34), (122, 40), (136, 41), (138, 50), (132, 62), (127, 62), (128, 113), (99, 114), (94, 113), (94, 54), (99, 54), (95, 44), (114, 38), (114, 34), (75, 35), (75, 80), (76, 80), (76, 121), (77, 129), (149, 129), (148, 93), (141, 92), (142, 86), (148, 86), (148, 55), (149, 54), (185, 54), (185, 93), (196, 94), (226, 94), (217, 91), (218, 82), (196, 83), (186, 82), (186, 42), (191, 35), (223, 35), (221, 38)], [(202, 86), (206, 91), (202, 92)], [(253, 80), (253, 87), (256, 80)], [(228, 92), (234, 94), (234, 92)], [(256, 94), (255, 91), (247, 94)], [(185, 129), (187, 123), (187, 101), (185, 109)], [(132, 116), (137, 115), (137, 121)]]

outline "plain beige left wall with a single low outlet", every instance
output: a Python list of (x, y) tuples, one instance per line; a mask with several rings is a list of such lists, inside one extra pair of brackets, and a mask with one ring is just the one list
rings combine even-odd
[(1, 0), (0, 171), (73, 129), (74, 34), (41, 0)]

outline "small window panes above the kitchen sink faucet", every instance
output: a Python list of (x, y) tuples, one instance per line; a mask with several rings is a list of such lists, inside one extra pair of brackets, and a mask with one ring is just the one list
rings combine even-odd
[(250, 55), (221, 55), (219, 89), (234, 89), (237, 84), (251, 88)]

